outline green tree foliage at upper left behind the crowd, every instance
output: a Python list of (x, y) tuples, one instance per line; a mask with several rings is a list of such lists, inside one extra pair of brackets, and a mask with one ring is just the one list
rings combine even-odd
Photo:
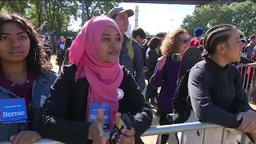
[[(6, 0), (0, 1), (0, 10), (22, 14), (38, 28), (44, 21), (47, 25), (43, 31), (56, 30), (55, 35), (71, 34), (68, 27), (70, 19), (81, 18), (82, 0)], [(99, 15), (107, 14), (119, 0), (85, 0), (86, 20)]]

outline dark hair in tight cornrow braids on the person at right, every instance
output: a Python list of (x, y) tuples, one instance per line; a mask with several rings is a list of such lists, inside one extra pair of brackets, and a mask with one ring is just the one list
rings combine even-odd
[(206, 58), (209, 57), (210, 54), (214, 54), (218, 44), (225, 43), (229, 40), (232, 30), (236, 30), (236, 27), (229, 24), (214, 26), (210, 28), (210, 30), (207, 30), (203, 38), (205, 51), (202, 56)]

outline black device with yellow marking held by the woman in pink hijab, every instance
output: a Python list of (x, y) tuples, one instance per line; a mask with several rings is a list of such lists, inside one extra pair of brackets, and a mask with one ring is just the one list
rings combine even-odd
[(127, 114), (122, 114), (121, 118), (118, 119), (114, 124), (114, 128), (110, 132), (109, 142), (110, 144), (116, 144), (119, 136), (122, 134), (122, 129), (131, 130), (132, 124)]

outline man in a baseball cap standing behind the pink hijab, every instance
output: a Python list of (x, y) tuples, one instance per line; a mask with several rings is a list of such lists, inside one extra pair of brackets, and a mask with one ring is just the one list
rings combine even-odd
[(129, 26), (129, 17), (134, 15), (134, 10), (125, 10), (123, 7), (114, 7), (110, 10), (109, 17), (118, 24), (122, 33), (122, 50), (120, 52), (120, 65), (126, 66), (130, 73), (134, 75), (138, 86), (143, 91), (145, 88), (145, 74), (143, 69), (142, 50), (133, 38), (125, 33)]

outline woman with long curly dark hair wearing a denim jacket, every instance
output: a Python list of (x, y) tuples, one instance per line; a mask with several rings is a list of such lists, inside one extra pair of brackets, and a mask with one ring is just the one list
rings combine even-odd
[(0, 123), (0, 142), (33, 143), (40, 108), (57, 75), (51, 71), (37, 32), (17, 14), (0, 13), (0, 101), (24, 98), (26, 122)]

